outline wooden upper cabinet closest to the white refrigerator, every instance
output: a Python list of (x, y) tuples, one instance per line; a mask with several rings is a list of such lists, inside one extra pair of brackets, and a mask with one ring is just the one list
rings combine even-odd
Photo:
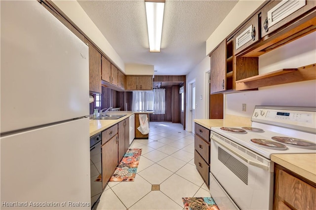
[(85, 38), (89, 46), (89, 90), (101, 93), (101, 53)]

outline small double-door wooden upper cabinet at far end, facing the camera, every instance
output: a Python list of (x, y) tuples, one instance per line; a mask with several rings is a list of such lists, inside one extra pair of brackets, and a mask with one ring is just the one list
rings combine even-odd
[(126, 75), (126, 90), (153, 90), (153, 76)]

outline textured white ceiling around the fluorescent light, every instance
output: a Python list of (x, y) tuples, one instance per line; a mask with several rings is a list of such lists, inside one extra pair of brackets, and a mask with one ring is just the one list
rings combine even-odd
[(160, 52), (149, 52), (144, 0), (78, 0), (125, 64), (186, 75), (205, 58), (206, 39), (237, 0), (166, 0)]

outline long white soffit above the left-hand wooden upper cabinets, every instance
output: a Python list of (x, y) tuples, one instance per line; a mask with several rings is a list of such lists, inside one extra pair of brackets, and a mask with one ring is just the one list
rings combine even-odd
[(52, 2), (87, 35), (120, 70), (125, 72), (125, 65), (118, 53), (102, 35), (76, 0), (52, 0)]

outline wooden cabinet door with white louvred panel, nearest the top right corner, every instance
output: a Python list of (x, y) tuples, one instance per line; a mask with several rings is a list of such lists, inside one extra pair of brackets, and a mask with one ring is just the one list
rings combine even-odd
[(261, 36), (284, 28), (287, 24), (316, 7), (315, 0), (275, 0), (261, 10)]

